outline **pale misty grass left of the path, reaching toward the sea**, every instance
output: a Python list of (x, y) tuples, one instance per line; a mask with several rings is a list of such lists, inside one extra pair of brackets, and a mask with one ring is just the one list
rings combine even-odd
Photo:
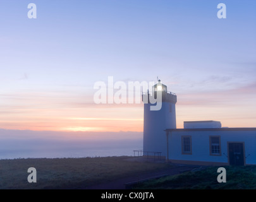
[[(132, 157), (0, 160), (0, 189), (84, 189), (168, 167), (165, 163), (132, 162), (129, 158)], [(37, 169), (37, 183), (28, 183), (29, 167)]]

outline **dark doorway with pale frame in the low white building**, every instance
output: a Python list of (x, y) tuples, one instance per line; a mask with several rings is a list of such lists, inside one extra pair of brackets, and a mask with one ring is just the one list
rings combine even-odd
[(228, 143), (229, 165), (245, 165), (245, 143)]

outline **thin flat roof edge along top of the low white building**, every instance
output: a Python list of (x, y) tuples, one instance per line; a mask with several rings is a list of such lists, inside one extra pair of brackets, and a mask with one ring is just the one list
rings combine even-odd
[(256, 128), (178, 128), (178, 129), (165, 129), (164, 131), (256, 131)]

